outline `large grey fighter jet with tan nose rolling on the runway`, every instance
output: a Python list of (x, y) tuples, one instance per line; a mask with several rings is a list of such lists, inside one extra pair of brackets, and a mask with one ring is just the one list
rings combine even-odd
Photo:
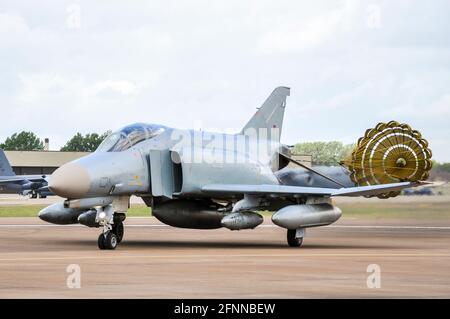
[[(259, 211), (267, 210), (272, 212), (273, 223), (287, 230), (289, 246), (298, 247), (306, 228), (329, 225), (341, 217), (332, 197), (393, 196), (403, 188), (423, 184), (419, 177), (425, 175), (401, 173), (414, 163), (423, 164), (400, 152), (402, 140), (394, 149), (385, 148), (386, 160), (394, 161), (389, 165), (395, 167), (376, 158), (370, 162), (372, 168), (382, 166), (381, 173), (367, 169), (361, 173), (356, 163), (359, 151), (348, 172), (341, 172), (339, 178), (303, 167), (280, 143), (289, 95), (289, 88), (276, 88), (236, 134), (157, 124), (125, 126), (94, 153), (52, 174), (49, 189), (67, 199), (43, 209), (39, 217), (55, 224), (99, 227), (98, 247), (115, 249), (124, 235), (123, 221), (132, 195), (141, 197), (151, 207), (149, 213), (161, 222), (182, 228), (253, 229), (263, 222)], [(392, 129), (396, 123), (380, 128)], [(389, 143), (394, 142), (389, 139)], [(293, 173), (283, 171), (289, 162), (302, 167)], [(369, 171), (377, 180), (384, 182), (387, 176), (392, 182), (373, 182)], [(314, 179), (304, 179), (308, 178), (305, 172)]]

